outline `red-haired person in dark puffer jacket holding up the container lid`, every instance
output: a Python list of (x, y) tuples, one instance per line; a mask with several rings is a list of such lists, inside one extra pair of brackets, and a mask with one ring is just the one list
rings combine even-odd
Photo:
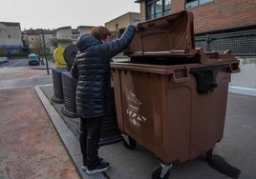
[(137, 25), (126, 27), (121, 37), (110, 41), (105, 27), (96, 27), (77, 38), (78, 52), (71, 73), (77, 79), (76, 110), (80, 117), (80, 148), (88, 174), (108, 169), (109, 163), (98, 157), (100, 123), (107, 110), (111, 88), (110, 61), (131, 43)]

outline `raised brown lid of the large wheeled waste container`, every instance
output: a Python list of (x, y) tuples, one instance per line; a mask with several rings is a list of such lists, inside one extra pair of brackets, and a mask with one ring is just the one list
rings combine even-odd
[[(123, 29), (120, 30), (120, 34)], [(139, 23), (128, 56), (194, 56), (193, 13), (178, 13)]]

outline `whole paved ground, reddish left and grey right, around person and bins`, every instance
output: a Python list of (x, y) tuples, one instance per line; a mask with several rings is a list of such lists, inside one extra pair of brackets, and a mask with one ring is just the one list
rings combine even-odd
[[(26, 80), (16, 79), (20, 74), (9, 72), (5, 75), (10, 81)], [(19, 72), (22, 73), (22, 70)], [(40, 70), (38, 76), (34, 70), (25, 73), (23, 76), (32, 79), (45, 76)], [(9, 88), (0, 89), (1, 179), (148, 179), (153, 170), (160, 167), (149, 150), (140, 145), (136, 149), (126, 149), (119, 142), (99, 149), (100, 156), (110, 162), (110, 169), (93, 176), (87, 175), (80, 169), (78, 119), (66, 117), (65, 120), (70, 123), (63, 120), (61, 105), (50, 100), (53, 96), (52, 82), (43, 84), (35, 88), (33, 85), (38, 84), (30, 83), (26, 87), (10, 85)], [(214, 148), (215, 154), (224, 158), (230, 166), (241, 170), (241, 179), (254, 179), (256, 176), (255, 107), (256, 97), (228, 93), (224, 138)], [(170, 169), (169, 178), (229, 177), (212, 169), (203, 157), (199, 157)]]

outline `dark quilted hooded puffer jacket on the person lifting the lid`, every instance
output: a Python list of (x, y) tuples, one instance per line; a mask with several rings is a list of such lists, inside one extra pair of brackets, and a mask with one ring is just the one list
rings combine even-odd
[(110, 89), (111, 58), (128, 47), (135, 30), (130, 25), (119, 39), (104, 44), (91, 34), (78, 37), (78, 52), (71, 73), (77, 79), (75, 101), (79, 116), (92, 118), (105, 114)]

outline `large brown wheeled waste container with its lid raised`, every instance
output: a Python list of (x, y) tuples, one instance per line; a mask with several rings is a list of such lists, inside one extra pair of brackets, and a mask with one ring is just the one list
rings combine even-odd
[(228, 84), (239, 61), (226, 51), (195, 49), (188, 11), (140, 23), (125, 53), (129, 62), (111, 63), (118, 128), (155, 153), (161, 168), (153, 176), (164, 178), (223, 138)]

